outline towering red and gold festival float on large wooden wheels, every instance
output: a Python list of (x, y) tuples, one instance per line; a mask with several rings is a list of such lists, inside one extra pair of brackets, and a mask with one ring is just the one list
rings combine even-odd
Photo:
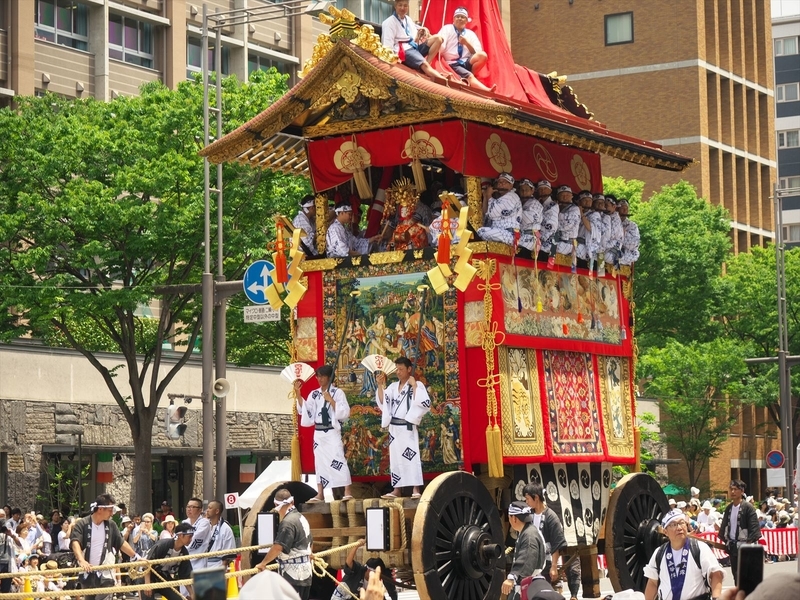
[[(443, 4), (423, 3), (431, 31), (450, 22)], [(365, 510), (388, 506), (390, 547), (380, 556), (420, 597), (493, 599), (505, 579), (504, 509), (538, 481), (561, 517), (566, 554), (579, 556), (584, 594), (599, 595), (598, 550), (616, 589), (643, 590), (666, 497), (645, 475), (610, 493), (612, 466), (638, 464), (633, 267), (590, 272), (568, 255), (520, 258), (512, 246), (470, 239), (469, 229), (481, 226), (482, 179), (501, 172), (597, 193), (601, 155), (672, 171), (692, 160), (604, 127), (564, 78), (514, 64), (496, 3), (462, 4), (489, 55), (477, 75), (494, 93), (407, 68), (371, 26), (334, 8), (321, 17), (330, 33), (300, 82), (202, 151), (213, 163), (308, 177), (321, 246), (334, 194), (368, 210), (370, 236), (436, 178), (465, 192), (467, 206), (453, 214), (460, 239), (439, 249), (409, 244), (401, 221), (388, 250), (310, 260), (298, 251), (299, 231), (289, 243), (290, 223), (278, 219), (283, 266), (270, 303), (291, 309), (293, 361), (334, 366), (351, 406), (342, 427), (351, 472), (376, 484), (374, 498), (301, 510), (320, 551), (363, 537)], [(362, 364), (374, 355), (410, 358), (432, 400), (419, 425), (419, 499), (379, 499), (389, 484), (388, 433)], [(314, 387), (312, 379), (303, 392)], [(295, 472), (313, 473), (313, 428), (299, 429)], [(316, 492), (286, 485), (298, 503)], [(272, 506), (275, 489), (247, 519), (245, 545), (257, 541), (255, 513)], [(340, 567), (344, 552), (328, 560)]]

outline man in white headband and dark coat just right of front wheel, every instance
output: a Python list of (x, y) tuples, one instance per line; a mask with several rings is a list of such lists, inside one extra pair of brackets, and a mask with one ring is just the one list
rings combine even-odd
[(523, 579), (539, 575), (544, 567), (545, 545), (539, 530), (533, 526), (530, 507), (515, 501), (508, 506), (508, 524), (517, 532), (517, 542), (508, 577), (500, 588), (508, 600), (519, 600)]

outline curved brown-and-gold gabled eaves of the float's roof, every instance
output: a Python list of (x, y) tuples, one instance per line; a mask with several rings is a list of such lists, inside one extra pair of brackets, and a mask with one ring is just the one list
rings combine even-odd
[[(683, 171), (694, 161), (660, 148), (626, 143), (602, 131), (581, 133), (576, 128), (549, 121), (546, 116), (532, 119), (515, 106), (492, 98), (474, 95), (462, 89), (447, 88), (427, 79), (393, 71), (392, 65), (369, 55), (349, 42), (339, 41), (296, 85), (267, 110), (235, 131), (201, 150), (213, 163), (238, 161), (258, 168), (270, 168), (308, 176), (304, 143), (307, 140), (424, 122), (461, 119), (534, 136), (580, 150), (605, 154), (643, 166)], [(355, 81), (352, 85), (346, 83)], [(408, 80), (408, 81), (406, 81)], [(343, 87), (343, 83), (345, 82)], [(413, 85), (411, 84), (413, 83)], [(350, 85), (350, 88), (347, 87)], [(353, 85), (357, 89), (352, 89)], [(348, 121), (325, 122), (326, 112), (340, 98), (354, 93), (376, 98), (391, 92), (413, 110), (390, 115), (370, 115)], [(443, 93), (444, 92), (444, 93)], [(322, 121), (322, 122), (320, 122)], [(587, 122), (587, 125), (591, 122)], [(281, 132), (294, 129), (303, 142), (289, 143)], [(292, 148), (294, 154), (284, 153)]]

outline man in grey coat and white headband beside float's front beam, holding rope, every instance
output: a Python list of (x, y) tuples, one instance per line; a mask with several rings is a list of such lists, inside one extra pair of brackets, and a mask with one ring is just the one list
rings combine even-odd
[(279, 574), (288, 581), (300, 596), (308, 600), (311, 593), (311, 527), (294, 506), (294, 497), (286, 488), (275, 492), (273, 500), (280, 515), (275, 542), (266, 556), (256, 565), (259, 571), (278, 560)]

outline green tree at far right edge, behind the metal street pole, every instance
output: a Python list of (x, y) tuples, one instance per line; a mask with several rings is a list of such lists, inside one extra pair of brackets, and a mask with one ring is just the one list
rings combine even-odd
[[(786, 266), (787, 340), (791, 355), (800, 354), (800, 310), (794, 300), (800, 298), (800, 248), (784, 255)], [(750, 357), (774, 357), (778, 353), (777, 276), (775, 247), (753, 247), (728, 261), (726, 274), (718, 281), (721, 298), (720, 322), (725, 335), (739, 340)], [(800, 369), (792, 377), (792, 396), (800, 393)], [(780, 389), (777, 364), (757, 365), (750, 369), (748, 389), (759, 406), (767, 407), (772, 421), (781, 425)], [(795, 439), (800, 442), (800, 406), (793, 413)]]

